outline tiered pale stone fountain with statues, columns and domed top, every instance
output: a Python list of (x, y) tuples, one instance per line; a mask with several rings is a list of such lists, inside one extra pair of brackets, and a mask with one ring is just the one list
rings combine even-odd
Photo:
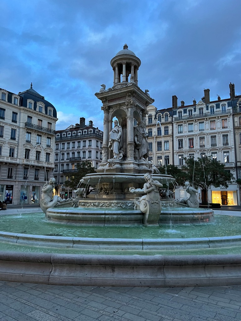
[[(147, 160), (147, 106), (154, 100), (148, 90), (144, 92), (138, 87), (140, 64), (139, 58), (125, 45), (111, 60), (113, 86), (106, 90), (102, 84), (100, 92), (95, 94), (102, 101), (104, 112), (103, 159), (97, 173), (82, 178), (76, 187), (77, 196), (65, 202), (57, 195), (51, 202), (53, 179), (44, 186), (40, 206), (51, 232), (45, 235), (26, 234), (29, 230), (0, 232), (1, 240), (22, 245), (26, 250), (24, 253), (0, 251), (2, 280), (154, 287), (241, 282), (241, 256), (197, 256), (194, 252), (202, 248), (208, 251), (240, 246), (240, 235), (165, 239), (159, 233), (162, 231), (159, 225), (169, 227), (170, 221), (196, 226), (193, 223), (201, 223), (201, 226), (214, 221), (214, 216), (212, 210), (198, 208), (196, 191), (189, 183), (186, 187), (190, 197), (177, 202), (168, 197), (167, 190), (166, 198), (160, 200), (158, 188), (174, 184), (175, 179), (171, 175), (154, 174), (155, 168)], [(138, 121), (135, 127), (134, 118)], [(88, 184), (96, 189), (83, 199)], [(60, 225), (79, 232), (62, 235)], [(93, 228), (93, 236), (85, 237), (89, 227)], [(99, 228), (97, 236), (95, 231)], [(114, 229), (112, 237), (108, 233), (103, 236), (105, 228)], [(128, 235), (118, 237), (118, 229), (127, 229)], [(156, 234), (150, 237), (151, 232)], [(41, 246), (45, 253), (27, 253), (31, 246)], [(186, 249), (194, 255), (172, 255), (176, 251), (185, 254)], [(76, 250), (83, 253), (76, 255)]]

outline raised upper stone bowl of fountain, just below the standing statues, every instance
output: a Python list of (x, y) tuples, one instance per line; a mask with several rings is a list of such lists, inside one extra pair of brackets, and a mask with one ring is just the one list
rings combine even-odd
[[(175, 178), (171, 175), (164, 175), (164, 174), (153, 174), (152, 178), (157, 180), (162, 184), (171, 183), (175, 181)], [(83, 177), (84, 184), (90, 185), (97, 185), (99, 183), (145, 183), (144, 175), (143, 174), (128, 174), (128, 173), (102, 173), (97, 174), (88, 174)], [(83, 184), (82, 183), (82, 184)]]

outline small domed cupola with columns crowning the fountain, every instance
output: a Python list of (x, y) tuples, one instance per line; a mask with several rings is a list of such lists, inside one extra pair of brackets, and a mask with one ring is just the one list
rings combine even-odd
[[(140, 59), (133, 51), (128, 49), (127, 44), (111, 59), (111, 66), (114, 71), (114, 85), (132, 82), (138, 85), (138, 68), (141, 64)], [(122, 81), (121, 81), (122, 75)]]

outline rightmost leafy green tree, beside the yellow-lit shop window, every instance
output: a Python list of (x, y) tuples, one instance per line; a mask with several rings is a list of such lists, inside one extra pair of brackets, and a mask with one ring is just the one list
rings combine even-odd
[(203, 203), (207, 203), (207, 191), (210, 185), (228, 188), (228, 183), (234, 179), (233, 174), (225, 170), (225, 165), (220, 161), (213, 160), (211, 156), (198, 157), (196, 160), (185, 157), (184, 160), (185, 165), (182, 166), (182, 169), (186, 173), (186, 180), (190, 184), (193, 180), (194, 187), (202, 188)]

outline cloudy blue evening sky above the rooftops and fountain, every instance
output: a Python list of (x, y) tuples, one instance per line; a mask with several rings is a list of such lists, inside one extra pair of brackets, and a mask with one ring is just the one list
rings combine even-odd
[(56, 110), (56, 129), (85, 117), (103, 129), (94, 93), (113, 85), (111, 59), (127, 43), (138, 86), (157, 109), (241, 94), (240, 0), (1, 0), (0, 88), (30, 88)]

